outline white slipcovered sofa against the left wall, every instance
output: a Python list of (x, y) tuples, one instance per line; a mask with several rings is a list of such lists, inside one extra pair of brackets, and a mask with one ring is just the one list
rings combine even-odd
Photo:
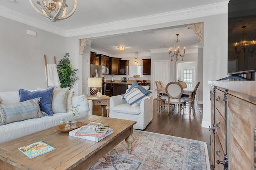
[[(69, 91), (70, 92), (70, 91)], [(92, 101), (87, 100), (86, 96), (67, 96), (67, 105), (72, 105), (71, 107), (76, 107), (77, 104), (80, 105), (79, 108), (79, 117), (85, 117), (87, 115), (92, 115)], [(14, 104), (20, 101), (19, 92), (0, 92), (0, 109), (3, 109), (2, 106), (5, 104)], [(1, 106), (1, 104), (3, 104)], [(52, 101), (53, 104), (53, 101)], [(10, 105), (7, 105), (10, 106)], [(68, 108), (68, 107), (67, 107)], [(1, 115), (0, 115), (1, 116)], [(0, 117), (1, 118), (1, 117)], [(0, 143), (17, 139), (25, 135), (36, 133), (44, 129), (54, 127), (56, 125), (62, 124), (60, 121), (65, 119), (65, 121), (72, 121), (73, 114), (71, 110), (66, 110), (64, 113), (53, 113), (52, 115), (43, 116), (40, 118), (26, 119), (22, 121), (15, 121), (5, 125), (0, 125)]]

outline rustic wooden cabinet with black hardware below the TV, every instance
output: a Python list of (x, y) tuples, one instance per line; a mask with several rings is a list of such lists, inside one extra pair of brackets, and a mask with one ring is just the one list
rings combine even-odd
[(211, 84), (211, 165), (215, 170), (254, 170), (256, 81)]

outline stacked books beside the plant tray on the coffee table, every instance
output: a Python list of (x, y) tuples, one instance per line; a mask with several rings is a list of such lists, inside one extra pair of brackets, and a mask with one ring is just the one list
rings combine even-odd
[[(91, 128), (89, 128), (91, 127)], [(101, 129), (99, 129), (98, 131), (95, 131), (94, 130), (94, 127), (93, 125), (90, 125), (90, 126), (82, 126), (80, 128), (80, 130), (78, 130), (76, 132), (76, 136), (94, 136), (94, 137), (104, 137), (109, 129), (108, 126), (103, 126)]]

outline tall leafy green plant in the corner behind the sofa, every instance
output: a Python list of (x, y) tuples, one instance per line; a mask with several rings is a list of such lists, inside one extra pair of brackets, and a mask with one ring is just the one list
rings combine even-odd
[(60, 78), (60, 87), (66, 88), (74, 85), (74, 83), (78, 80), (78, 76), (76, 76), (76, 72), (78, 69), (75, 69), (72, 64), (70, 64), (69, 53), (66, 53), (63, 59), (60, 60), (59, 64), (57, 64), (57, 72)]

